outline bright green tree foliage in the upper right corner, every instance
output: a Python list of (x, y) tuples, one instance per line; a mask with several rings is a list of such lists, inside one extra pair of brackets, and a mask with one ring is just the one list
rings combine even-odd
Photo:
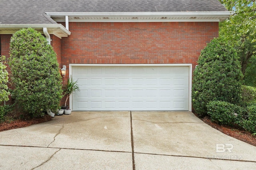
[[(234, 14), (220, 23), (220, 37), (238, 50), (242, 73), (246, 73), (250, 58), (256, 54), (256, 1), (220, 0)], [(254, 77), (255, 78), (255, 77)]]

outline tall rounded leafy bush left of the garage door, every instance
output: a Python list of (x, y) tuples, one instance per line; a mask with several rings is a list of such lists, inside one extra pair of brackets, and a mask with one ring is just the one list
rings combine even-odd
[(12, 97), (32, 117), (57, 110), (62, 79), (56, 53), (46, 38), (32, 28), (21, 29), (10, 40)]

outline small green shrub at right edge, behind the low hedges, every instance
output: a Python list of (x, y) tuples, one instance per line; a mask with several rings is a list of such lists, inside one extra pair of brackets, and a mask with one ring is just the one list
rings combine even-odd
[(256, 104), (256, 88), (242, 86), (242, 104), (245, 106)]

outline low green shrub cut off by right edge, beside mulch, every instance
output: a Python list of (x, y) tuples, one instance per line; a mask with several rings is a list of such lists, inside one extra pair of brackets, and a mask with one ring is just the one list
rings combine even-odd
[(245, 130), (256, 133), (256, 105), (247, 107), (245, 119), (240, 123)]

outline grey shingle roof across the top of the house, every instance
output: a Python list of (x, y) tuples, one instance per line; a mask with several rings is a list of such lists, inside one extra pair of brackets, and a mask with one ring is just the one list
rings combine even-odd
[(218, 0), (0, 0), (0, 24), (56, 23), (45, 12), (227, 12)]

